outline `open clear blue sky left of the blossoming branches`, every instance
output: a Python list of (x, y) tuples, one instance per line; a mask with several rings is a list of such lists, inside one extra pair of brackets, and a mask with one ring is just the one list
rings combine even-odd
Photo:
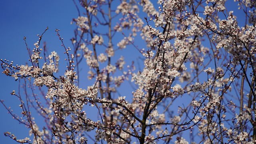
[[(232, 5), (228, 6), (232, 8)], [(235, 12), (236, 14), (239, 13)], [(72, 0), (2, 0), (0, 16), (2, 21), (0, 23), (0, 58), (6, 58), (20, 65), (28, 62), (24, 36), (26, 36), (28, 47), (34, 48), (33, 44), (38, 40), (37, 34), (42, 34), (47, 26), (49, 30), (44, 34), (42, 42), (47, 42), (49, 51), (63, 52), (56, 36), (56, 28), (60, 29), (61, 36), (66, 40), (65, 43), (71, 46), (70, 38), (74, 36), (75, 26), (70, 22), (72, 18), (78, 16), (78, 12)], [(238, 18), (243, 17), (238, 16)], [(0, 74), (0, 90), (0, 99), (4, 99), (7, 106), (20, 114), (19, 101), (10, 95), (12, 90), (18, 91), (18, 82), (15, 82), (14, 78)], [(127, 91), (127, 89), (122, 90)], [(0, 104), (0, 115), (0, 143), (15, 143), (4, 136), (6, 131), (15, 134), (18, 139), (28, 136), (28, 129), (13, 120), (2, 104)]]

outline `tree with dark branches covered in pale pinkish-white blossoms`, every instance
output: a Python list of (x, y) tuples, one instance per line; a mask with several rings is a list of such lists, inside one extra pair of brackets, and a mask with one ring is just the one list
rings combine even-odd
[[(240, 9), (244, 21), (226, 5), (80, 0), (73, 45), (66, 46), (56, 29), (65, 58), (55, 51), (46, 56), (46, 28), (32, 51), (26, 44), (30, 63), (1, 59), (4, 74), (26, 83), (24, 95), (11, 93), (20, 100), (22, 116), (1, 103), (30, 129), (32, 140), (5, 136), (37, 144), (255, 144), (256, 2), (235, 0), (233, 10)], [(125, 48), (140, 60), (125, 62)], [(62, 59), (66, 65), (59, 65)], [(88, 74), (81, 72), (84, 63)], [(81, 86), (84, 77), (92, 83), (87, 89)], [(123, 88), (131, 91), (118, 91)], [(32, 108), (47, 125), (36, 123)]]

